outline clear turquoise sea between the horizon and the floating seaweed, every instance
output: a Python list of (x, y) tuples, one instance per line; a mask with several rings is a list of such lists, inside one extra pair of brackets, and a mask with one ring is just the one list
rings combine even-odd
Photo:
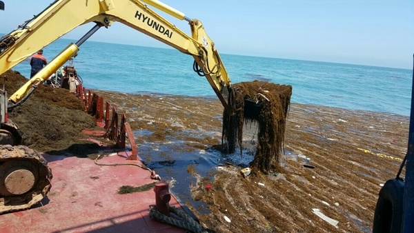
[[(50, 61), (71, 42), (76, 41), (58, 39), (43, 55)], [(413, 70), (220, 55), (232, 83), (259, 80), (292, 85), (293, 103), (410, 114)], [(73, 65), (89, 89), (215, 98), (206, 79), (193, 72), (193, 57), (172, 48), (86, 41)], [(30, 77), (28, 59), (12, 70)]]

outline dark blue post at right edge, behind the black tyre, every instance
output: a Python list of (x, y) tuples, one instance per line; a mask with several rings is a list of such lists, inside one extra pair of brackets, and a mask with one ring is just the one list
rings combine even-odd
[[(413, 56), (414, 57), (414, 56)], [(413, 59), (414, 60), (414, 59)], [(402, 232), (414, 232), (414, 63), (413, 85), (411, 87), (410, 130), (408, 132), (408, 149), (406, 154), (406, 179), (404, 183), (404, 207)]]

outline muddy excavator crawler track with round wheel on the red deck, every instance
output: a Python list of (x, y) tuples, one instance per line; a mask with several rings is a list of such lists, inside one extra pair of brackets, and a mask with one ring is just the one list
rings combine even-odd
[(0, 152), (0, 214), (41, 201), (52, 187), (46, 159), (23, 145), (0, 145)]

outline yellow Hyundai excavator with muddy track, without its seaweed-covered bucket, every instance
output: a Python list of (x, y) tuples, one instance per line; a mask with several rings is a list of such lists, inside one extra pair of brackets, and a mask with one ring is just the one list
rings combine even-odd
[[(4, 8), (3, 5), (0, 4)], [(179, 20), (188, 21), (191, 35), (176, 28), (151, 8), (157, 8)], [(120, 22), (157, 39), (194, 58), (193, 69), (208, 83), (224, 105), (228, 106), (230, 79), (215, 43), (208, 37), (198, 19), (190, 19), (157, 0), (59, 0), (26, 21), (16, 30), (0, 39), (0, 74), (10, 70), (34, 52), (44, 48), (67, 32), (86, 23), (94, 23), (77, 43), (71, 43), (52, 59), (45, 68), (7, 98), (1, 90), (0, 143), (0, 213), (22, 210), (37, 203), (50, 190), (52, 173), (42, 156), (29, 148), (18, 146), (21, 135), (7, 117), (14, 108), (30, 95), (33, 88), (43, 83), (56, 70), (75, 56), (79, 46), (102, 26), (109, 28)], [(10, 105), (11, 103), (11, 105)]]

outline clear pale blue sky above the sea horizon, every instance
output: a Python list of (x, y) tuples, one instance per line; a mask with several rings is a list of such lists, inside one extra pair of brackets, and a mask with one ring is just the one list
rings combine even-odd
[[(9, 33), (52, 0), (3, 2), (0, 32)], [(221, 54), (413, 68), (414, 1), (163, 2), (203, 22)], [(190, 34), (186, 21), (166, 19)], [(92, 26), (77, 28), (63, 38), (79, 39)], [(101, 28), (90, 40), (168, 48), (121, 23)]]

